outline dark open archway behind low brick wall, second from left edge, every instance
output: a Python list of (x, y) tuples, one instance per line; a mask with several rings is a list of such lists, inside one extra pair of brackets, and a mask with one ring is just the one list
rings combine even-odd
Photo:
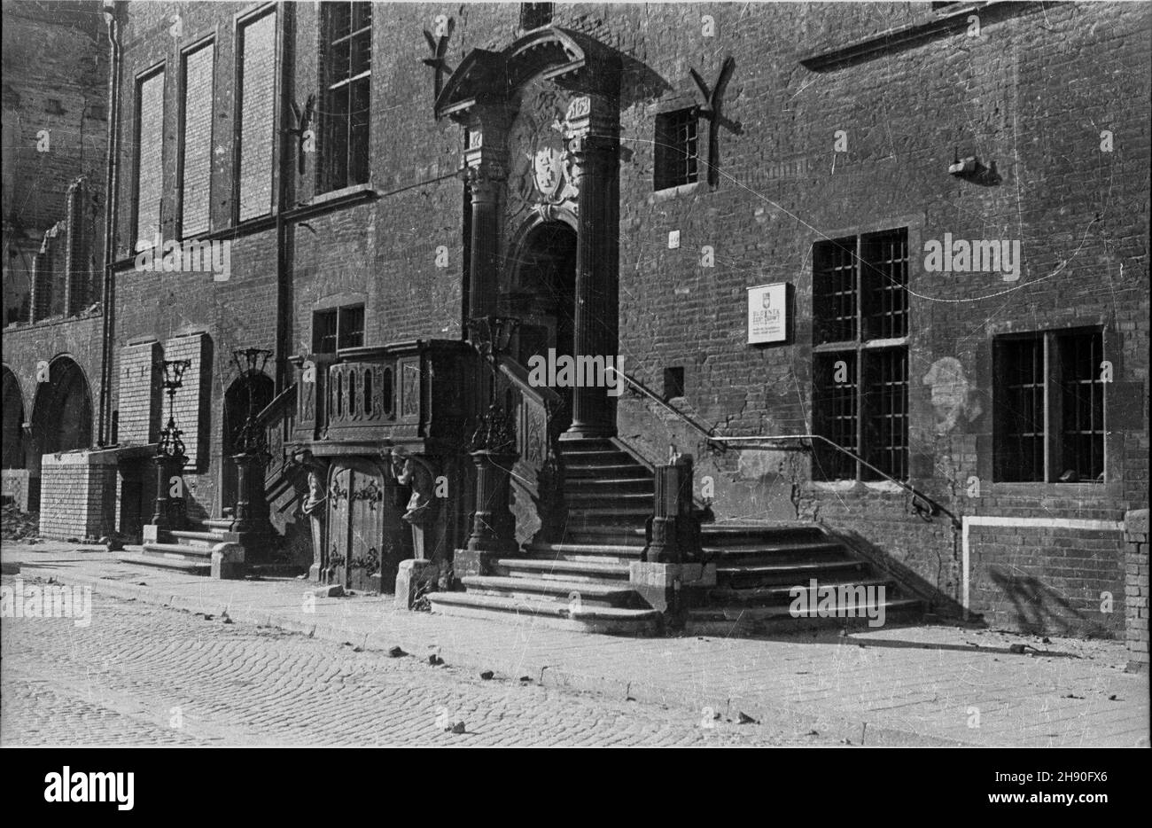
[(40, 458), (92, 444), (92, 394), (84, 369), (69, 356), (48, 366), (48, 382), (36, 387), (28, 461), (28, 507), (40, 507)]

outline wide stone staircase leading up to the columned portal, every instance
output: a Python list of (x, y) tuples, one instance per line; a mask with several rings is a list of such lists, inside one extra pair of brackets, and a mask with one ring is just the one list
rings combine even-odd
[[(561, 442), (567, 520), (523, 557), (500, 559), (495, 572), (465, 577), (463, 593), (435, 593), (445, 615), (528, 620), (588, 632), (652, 634), (660, 612), (631, 587), (629, 564), (641, 560), (644, 524), (653, 507), (653, 474), (612, 439)], [(711, 634), (771, 632), (866, 619), (793, 618), (789, 590), (820, 586), (885, 587), (886, 618), (916, 615), (922, 602), (841, 541), (814, 525), (718, 524), (703, 527), (706, 562), (717, 564), (707, 604), (688, 612), (688, 630)], [(867, 610), (865, 607), (863, 610)]]

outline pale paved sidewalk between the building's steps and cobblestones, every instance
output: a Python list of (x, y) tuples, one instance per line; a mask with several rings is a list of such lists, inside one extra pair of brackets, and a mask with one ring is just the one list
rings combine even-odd
[[(317, 597), (295, 579), (218, 581), (119, 562), (103, 548), (6, 543), (24, 577), (91, 585), (191, 612), (227, 611), (365, 649), (416, 656), (611, 698), (729, 717), (803, 716), (851, 744), (1149, 744), (1149, 677), (1122, 642), (1044, 641), (963, 626), (780, 635), (617, 638), (396, 610), (391, 596)], [(93, 597), (93, 623), (99, 601)], [(1013, 653), (1011, 645), (1026, 645)]]

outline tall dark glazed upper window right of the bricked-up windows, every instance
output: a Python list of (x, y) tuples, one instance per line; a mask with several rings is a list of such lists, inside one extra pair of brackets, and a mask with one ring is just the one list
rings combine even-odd
[(366, 183), (372, 91), (372, 3), (321, 3), (319, 190)]

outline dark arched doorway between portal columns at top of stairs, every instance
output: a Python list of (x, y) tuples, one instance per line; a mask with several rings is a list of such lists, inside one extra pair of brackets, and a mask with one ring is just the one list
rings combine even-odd
[[(563, 221), (545, 221), (532, 227), (520, 243), (514, 259), (511, 285), (516, 315), (521, 318), (515, 351), (526, 366), (540, 355), (556, 359), (575, 355), (576, 333), (576, 231)], [(571, 421), (571, 389), (553, 389), (564, 399), (556, 424)]]

